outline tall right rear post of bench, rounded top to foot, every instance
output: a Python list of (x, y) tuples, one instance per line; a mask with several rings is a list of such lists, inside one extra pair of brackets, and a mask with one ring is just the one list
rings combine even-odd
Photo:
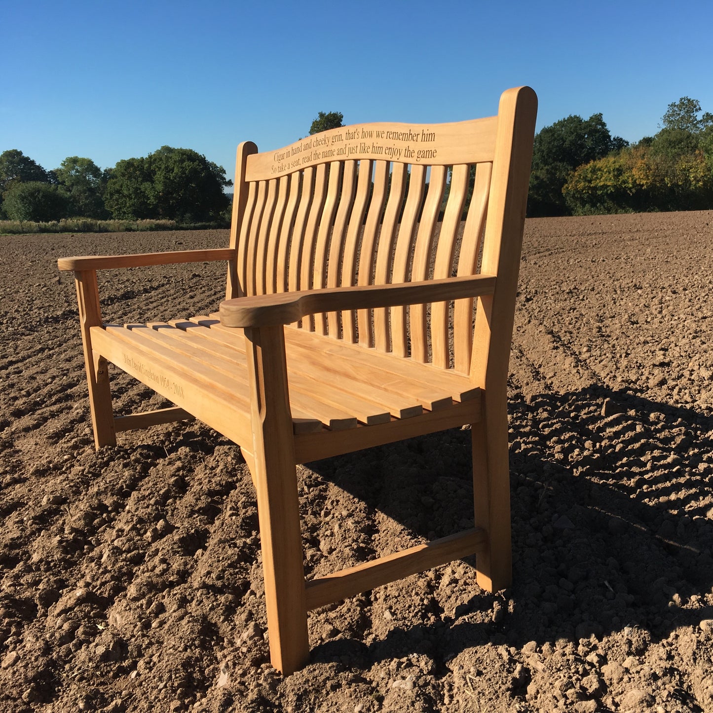
[(478, 299), (471, 355), (471, 381), (483, 389), (482, 419), (473, 425), (475, 520), (488, 535), (476, 570), (478, 585), (491, 592), (512, 580), (508, 362), (536, 114), (530, 88), (501, 96), (481, 261), (483, 275), (498, 279), (493, 294)]

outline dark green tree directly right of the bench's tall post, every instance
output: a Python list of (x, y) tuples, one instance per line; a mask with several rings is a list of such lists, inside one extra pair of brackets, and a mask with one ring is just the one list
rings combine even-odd
[(570, 173), (625, 145), (620, 136), (612, 137), (600, 113), (587, 120), (568, 116), (545, 126), (535, 135), (528, 215), (567, 215), (562, 189)]

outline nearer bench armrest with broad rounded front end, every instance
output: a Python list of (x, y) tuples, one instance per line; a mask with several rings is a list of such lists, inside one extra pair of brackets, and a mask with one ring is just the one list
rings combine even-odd
[(278, 292), (238, 297), (220, 303), (220, 323), (225, 327), (273, 327), (292, 324), (315, 312), (343, 309), (402, 307), (406, 304), (446, 302), (451, 299), (493, 294), (495, 277), (466, 275), (425, 282), (369, 284), (354, 287)]

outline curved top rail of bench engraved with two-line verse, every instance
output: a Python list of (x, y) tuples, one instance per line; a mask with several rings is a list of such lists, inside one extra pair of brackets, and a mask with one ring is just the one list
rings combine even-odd
[(340, 126), (275, 151), (247, 157), (249, 181), (270, 180), (318, 163), (376, 159), (448, 166), (492, 161), (498, 117), (445, 124), (369, 123)]

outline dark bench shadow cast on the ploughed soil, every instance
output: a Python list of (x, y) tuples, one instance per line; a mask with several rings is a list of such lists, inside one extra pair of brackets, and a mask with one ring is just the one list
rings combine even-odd
[[(370, 645), (325, 642), (312, 660), (576, 645), (626, 627), (661, 640), (713, 617), (713, 416), (600, 386), (515, 394), (508, 410), (513, 587), (488, 595), (473, 584), (453, 615), (436, 611), (435, 623), (395, 627)], [(469, 431), (454, 430), (309, 468), (432, 539), (472, 523), (470, 450)], [(496, 600), (511, 612), (490, 617)]]

